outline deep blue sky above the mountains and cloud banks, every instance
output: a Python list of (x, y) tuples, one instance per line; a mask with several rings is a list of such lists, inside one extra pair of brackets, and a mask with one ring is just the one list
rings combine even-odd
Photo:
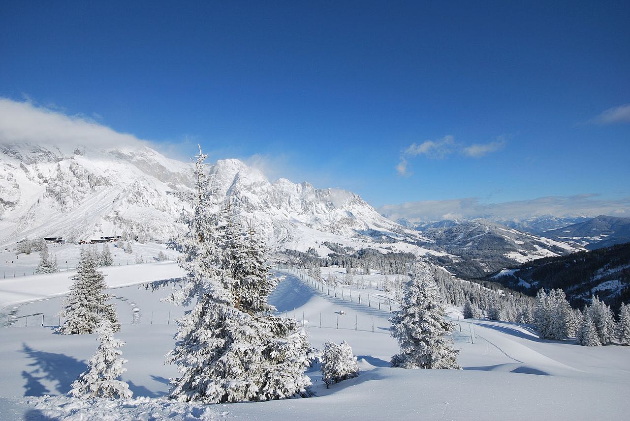
[(0, 97), (375, 206), (630, 197), (627, 2), (106, 3), (2, 2)]

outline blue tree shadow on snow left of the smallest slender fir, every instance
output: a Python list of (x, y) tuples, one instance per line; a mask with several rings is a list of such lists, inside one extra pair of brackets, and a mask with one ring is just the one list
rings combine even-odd
[(56, 382), (57, 392), (66, 393), (70, 390), (72, 382), (86, 369), (86, 364), (76, 358), (37, 351), (25, 343), (22, 344), (22, 352), (33, 359), (33, 362), (28, 364), (33, 369), (30, 372), (22, 371), (22, 377), (26, 380), (24, 396), (50, 394), (40, 380)]

